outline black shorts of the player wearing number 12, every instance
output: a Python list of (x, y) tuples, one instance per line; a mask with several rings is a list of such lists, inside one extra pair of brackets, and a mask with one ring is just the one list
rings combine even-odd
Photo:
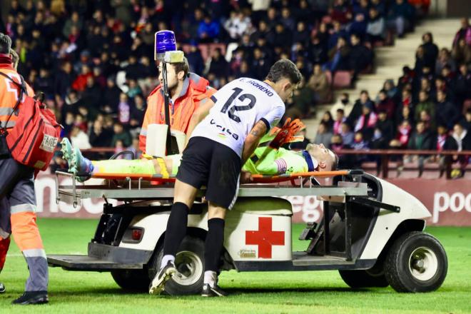
[(240, 163), (228, 146), (196, 136), (183, 151), (176, 177), (194, 188), (206, 186), (206, 200), (231, 209), (238, 194)]

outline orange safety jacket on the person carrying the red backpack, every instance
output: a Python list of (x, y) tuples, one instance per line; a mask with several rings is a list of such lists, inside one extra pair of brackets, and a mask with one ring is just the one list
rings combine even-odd
[[(21, 78), (19, 74), (11, 67), (11, 65), (0, 64), (0, 71), (10, 76), (14, 81), (21, 84)], [(26, 84), (26, 91), (29, 96), (34, 96), (33, 89)], [(13, 112), (13, 108), (16, 105), (16, 101), (19, 97), (19, 88), (8, 78), (0, 76), (0, 128), (13, 128), (18, 118), (18, 113)], [(11, 118), (6, 122), (11, 115)]]

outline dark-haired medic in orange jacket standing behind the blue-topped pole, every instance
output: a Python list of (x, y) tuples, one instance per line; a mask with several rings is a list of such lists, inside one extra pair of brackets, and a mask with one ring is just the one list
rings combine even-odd
[[(165, 124), (162, 67), (158, 79), (161, 82), (147, 98), (147, 110), (139, 135), (139, 148), (146, 151), (147, 126), (151, 123)], [(170, 94), (170, 125), (174, 130), (191, 131), (191, 117), (198, 107), (205, 103), (216, 89), (209, 86), (206, 78), (189, 72), (188, 61), (167, 66), (167, 84)]]

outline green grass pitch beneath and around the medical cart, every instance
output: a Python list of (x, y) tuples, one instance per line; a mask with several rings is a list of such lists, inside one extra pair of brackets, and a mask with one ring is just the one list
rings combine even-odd
[[(83, 254), (97, 221), (39, 219), (46, 253)], [(302, 225), (293, 228), (293, 247)], [(26, 263), (11, 243), (0, 281), (0, 313), (471, 313), (471, 228), (428, 228), (445, 246), (448, 275), (434, 293), (404, 294), (392, 288), (351, 290), (337, 271), (223, 272), (220, 285), (228, 298), (168, 297), (126, 293), (109, 273), (49, 268), (49, 305), (10, 305), (23, 293)], [(31, 311), (32, 310), (32, 311)]]

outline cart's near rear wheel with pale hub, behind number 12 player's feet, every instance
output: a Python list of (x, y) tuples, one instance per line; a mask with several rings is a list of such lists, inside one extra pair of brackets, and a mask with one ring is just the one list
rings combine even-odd
[[(161, 266), (163, 246), (158, 248), (156, 258), (153, 258), (149, 275), (151, 279)], [(199, 294), (203, 289), (204, 278), (204, 241), (201, 238), (186, 236), (176, 255), (175, 265), (178, 270), (165, 285), (166, 293), (170, 295)]]

